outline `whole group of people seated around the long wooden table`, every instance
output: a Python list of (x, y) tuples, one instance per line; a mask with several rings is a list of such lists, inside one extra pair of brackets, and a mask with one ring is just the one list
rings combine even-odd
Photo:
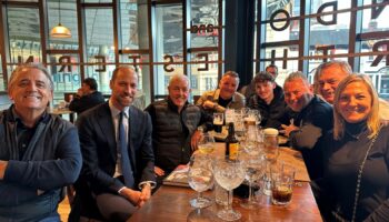
[(279, 129), (301, 151), (326, 221), (386, 221), (389, 105), (369, 78), (343, 61), (320, 64), (313, 85), (297, 71), (281, 88), (277, 75), (277, 67), (268, 67), (242, 94), (239, 74), (228, 71), (218, 89), (191, 104), (189, 79), (173, 74), (168, 97), (142, 111), (131, 105), (137, 72), (118, 67), (110, 99), (83, 110), (72, 125), (47, 112), (53, 82), (46, 68), (18, 67), (8, 85), (13, 104), (0, 113), (0, 221), (59, 221), (69, 184), (76, 188), (70, 221), (127, 221), (166, 175), (188, 163), (198, 128), (211, 130), (213, 112), (245, 107), (259, 110), (263, 128)]

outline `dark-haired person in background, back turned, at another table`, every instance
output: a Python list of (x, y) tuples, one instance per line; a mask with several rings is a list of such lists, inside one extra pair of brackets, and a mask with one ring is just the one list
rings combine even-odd
[(98, 84), (93, 78), (87, 78), (82, 81), (81, 88), (78, 89), (76, 97), (69, 104), (69, 110), (80, 114), (81, 112), (101, 104), (104, 98), (101, 92), (97, 91)]

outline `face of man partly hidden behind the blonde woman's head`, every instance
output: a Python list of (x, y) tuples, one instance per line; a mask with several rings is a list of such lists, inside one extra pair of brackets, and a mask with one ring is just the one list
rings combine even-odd
[(346, 73), (339, 64), (332, 64), (321, 71), (319, 78), (319, 94), (325, 98), (329, 103), (333, 103), (335, 90), (339, 82), (343, 80), (348, 73)]

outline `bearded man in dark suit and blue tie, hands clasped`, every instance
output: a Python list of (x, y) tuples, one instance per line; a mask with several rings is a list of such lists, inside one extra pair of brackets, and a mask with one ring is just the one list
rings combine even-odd
[[(80, 180), (88, 183), (101, 215), (109, 221), (126, 221), (150, 198), (154, 186), (154, 157), (149, 114), (132, 107), (138, 85), (133, 69), (119, 67), (110, 81), (108, 102), (82, 113), (77, 125), (84, 161)], [(124, 112), (128, 155), (134, 185), (124, 185), (118, 149), (118, 122)]]

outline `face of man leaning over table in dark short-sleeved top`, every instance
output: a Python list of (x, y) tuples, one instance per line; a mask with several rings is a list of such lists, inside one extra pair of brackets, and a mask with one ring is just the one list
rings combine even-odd
[(311, 101), (313, 94), (307, 82), (293, 79), (283, 85), (285, 102), (295, 112), (300, 112)]

